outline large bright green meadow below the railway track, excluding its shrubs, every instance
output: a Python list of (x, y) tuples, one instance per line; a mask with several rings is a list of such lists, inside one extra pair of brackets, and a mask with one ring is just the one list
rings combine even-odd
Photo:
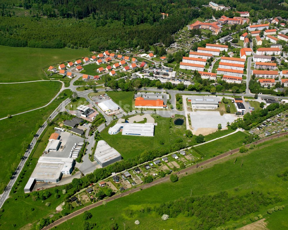
[[(189, 197), (192, 189), (192, 195), (213, 194), (220, 191), (227, 191), (229, 196), (243, 195), (246, 192), (262, 191), (264, 194), (269, 192), (271, 195), (279, 194), (281, 197), (287, 197), (287, 184), (283, 183), (276, 174), (283, 172), (288, 167), (287, 162), (287, 138), (280, 138), (257, 145), (250, 154), (237, 156), (234, 164), (234, 157), (227, 161), (211, 166), (211, 168), (199, 168), (197, 173), (180, 178), (176, 183), (162, 183), (137, 193), (122, 197), (109, 202), (107, 206), (99, 206), (90, 210), (92, 213), (91, 222), (97, 223), (98, 228), (106, 229), (111, 223), (118, 223), (119, 229), (123, 229), (123, 222), (126, 229), (179, 229), (186, 230), (191, 226), (191, 221), (197, 220), (195, 216), (185, 217), (179, 215), (176, 218), (169, 218), (167, 221), (161, 221), (161, 216), (156, 212), (139, 212), (145, 207), (158, 206), (163, 202), (175, 200), (180, 197)], [(265, 149), (265, 151), (263, 151)], [(243, 163), (242, 167), (241, 164)], [(269, 177), (268, 177), (269, 176)], [(287, 199), (287, 198), (285, 198)], [(259, 212), (254, 214), (263, 214), (267, 216), (266, 210), (275, 205), (267, 207), (260, 206)], [(127, 216), (126, 210), (132, 210), (132, 216)], [(286, 209), (286, 208), (285, 208)], [(282, 213), (281, 213), (282, 212)], [(286, 211), (279, 211), (271, 215), (279, 215), (278, 219), (283, 224), (287, 224), (285, 218)], [(244, 216), (239, 221), (235, 221), (237, 227), (242, 227), (242, 220), (249, 221), (249, 216)], [(77, 230), (82, 227), (82, 215), (79, 215), (65, 223), (59, 225), (59, 230)], [(139, 220), (140, 225), (135, 225), (134, 221)], [(277, 221), (277, 220), (276, 220)], [(270, 222), (273, 227), (277, 222)], [(230, 222), (231, 224), (233, 222)], [(283, 226), (285, 226), (283, 225)], [(226, 223), (223, 225), (226, 226)], [(276, 229), (276, 228), (271, 228)], [(287, 229), (287, 228), (282, 228)]]

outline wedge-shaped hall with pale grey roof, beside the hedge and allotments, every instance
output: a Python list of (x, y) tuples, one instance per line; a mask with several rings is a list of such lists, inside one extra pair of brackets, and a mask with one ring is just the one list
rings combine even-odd
[(99, 140), (94, 153), (94, 159), (102, 168), (104, 168), (116, 161), (120, 161), (122, 156), (104, 140)]

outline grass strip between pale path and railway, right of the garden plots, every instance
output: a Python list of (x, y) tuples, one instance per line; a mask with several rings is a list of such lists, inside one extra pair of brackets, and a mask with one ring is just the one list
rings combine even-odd
[(236, 132), (230, 136), (195, 147), (195, 149), (196, 151), (199, 151), (199, 153), (203, 153), (206, 159), (211, 158), (229, 150), (241, 147), (245, 136), (247, 135), (243, 132)]

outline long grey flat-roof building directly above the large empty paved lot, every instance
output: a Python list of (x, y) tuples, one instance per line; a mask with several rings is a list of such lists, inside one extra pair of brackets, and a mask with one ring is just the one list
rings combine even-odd
[(208, 96), (191, 96), (188, 97), (188, 101), (191, 101), (193, 109), (216, 109), (218, 108), (218, 104), (221, 103), (221, 98)]

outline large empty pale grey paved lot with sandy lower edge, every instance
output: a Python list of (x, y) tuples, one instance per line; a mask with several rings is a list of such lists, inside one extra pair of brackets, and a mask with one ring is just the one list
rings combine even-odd
[(207, 135), (217, 131), (218, 124), (221, 124), (222, 128), (226, 128), (227, 122), (233, 122), (237, 116), (227, 113), (221, 116), (218, 111), (197, 111), (191, 112), (190, 118), (193, 133)]

